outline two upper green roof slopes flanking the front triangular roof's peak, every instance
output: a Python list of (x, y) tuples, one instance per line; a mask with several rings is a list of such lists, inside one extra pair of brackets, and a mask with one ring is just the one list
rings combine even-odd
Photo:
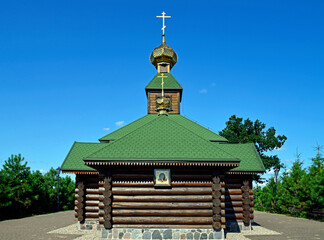
[[(145, 115), (144, 117), (141, 117), (136, 121), (100, 138), (99, 141), (120, 139), (123, 136), (135, 131), (137, 128), (142, 127), (143, 125), (153, 121), (157, 117), (158, 117), (157, 114)], [(175, 121), (176, 123), (180, 124), (182, 127), (187, 128), (188, 130), (194, 132), (195, 134), (199, 135), (200, 137), (206, 140), (227, 142), (226, 138), (210, 131), (209, 129), (199, 125), (198, 123), (191, 121), (190, 119), (184, 116), (181, 116), (180, 114), (170, 114), (168, 117), (170, 120)]]

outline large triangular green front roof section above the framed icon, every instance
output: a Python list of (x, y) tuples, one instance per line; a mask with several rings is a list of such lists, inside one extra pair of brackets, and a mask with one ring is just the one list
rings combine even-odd
[(239, 161), (171, 115), (155, 117), (85, 160)]

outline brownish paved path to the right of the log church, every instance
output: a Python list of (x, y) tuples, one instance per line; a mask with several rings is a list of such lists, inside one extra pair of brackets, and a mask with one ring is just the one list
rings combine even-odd
[(323, 222), (255, 211), (255, 223), (281, 235), (245, 236), (246, 238), (251, 240), (324, 239)]

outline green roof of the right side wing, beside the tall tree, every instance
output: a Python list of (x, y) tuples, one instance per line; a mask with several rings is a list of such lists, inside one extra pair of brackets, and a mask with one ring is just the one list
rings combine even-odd
[[(216, 143), (217, 144), (217, 143)], [(258, 171), (263, 172), (265, 168), (263, 162), (257, 153), (253, 143), (245, 144), (217, 144), (219, 148), (226, 152), (230, 152), (241, 160), (240, 165), (231, 171)]]

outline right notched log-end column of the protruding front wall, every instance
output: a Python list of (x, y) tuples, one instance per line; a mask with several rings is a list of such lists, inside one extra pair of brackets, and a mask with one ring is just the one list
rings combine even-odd
[(213, 171), (212, 199), (213, 199), (213, 228), (220, 231), (222, 228), (222, 192), (220, 182), (220, 172)]

